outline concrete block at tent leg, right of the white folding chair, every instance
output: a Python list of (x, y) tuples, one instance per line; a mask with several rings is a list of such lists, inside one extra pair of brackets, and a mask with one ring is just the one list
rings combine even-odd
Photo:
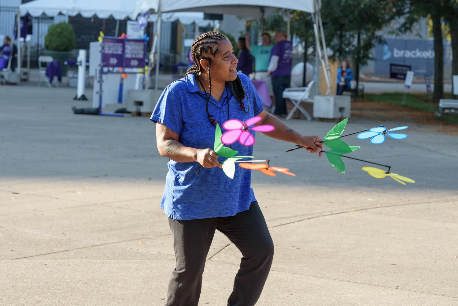
[(350, 117), (350, 96), (315, 96), (313, 117), (338, 119)]

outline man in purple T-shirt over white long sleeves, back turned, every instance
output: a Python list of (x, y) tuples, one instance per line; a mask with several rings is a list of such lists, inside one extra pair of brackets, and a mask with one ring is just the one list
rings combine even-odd
[(291, 82), (291, 62), (293, 59), (293, 44), (287, 40), (288, 36), (283, 31), (275, 33), (276, 44), (270, 54), (270, 63), (267, 68), (267, 76), (272, 76), (273, 94), (275, 95), (277, 116), (287, 115), (283, 91)]

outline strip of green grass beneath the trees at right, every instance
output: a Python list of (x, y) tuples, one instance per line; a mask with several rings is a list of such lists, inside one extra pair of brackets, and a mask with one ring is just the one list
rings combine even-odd
[[(444, 98), (451, 98), (451, 93), (445, 93)], [(413, 94), (413, 93), (406, 93), (405, 100), (404, 100), (404, 93), (366, 93), (365, 98), (368, 100), (376, 101), (376, 102), (386, 102), (391, 103), (399, 106), (405, 106), (410, 109), (415, 109), (427, 113), (435, 113), (437, 111), (438, 104), (431, 103), (430, 97), (426, 94)], [(436, 117), (436, 120), (448, 121), (452, 123), (458, 124), (458, 115), (442, 115), (440, 117)]]

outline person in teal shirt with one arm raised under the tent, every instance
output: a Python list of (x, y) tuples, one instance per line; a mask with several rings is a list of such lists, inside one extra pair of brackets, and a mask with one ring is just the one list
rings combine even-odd
[(272, 80), (267, 76), (267, 67), (270, 62), (270, 52), (273, 44), (269, 33), (262, 33), (262, 45), (251, 45), (250, 34), (245, 34), (246, 48), (250, 50), (251, 55), (255, 58), (255, 80), (266, 81), (269, 96), (272, 100), (272, 110), (275, 109), (275, 98), (273, 97)]

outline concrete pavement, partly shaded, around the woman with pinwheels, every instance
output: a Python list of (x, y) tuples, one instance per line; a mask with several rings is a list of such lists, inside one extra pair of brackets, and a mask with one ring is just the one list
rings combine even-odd
[[(174, 255), (154, 124), (73, 115), (91, 102), (73, 101), (72, 88), (0, 91), (0, 305), (163, 305)], [(256, 158), (297, 175), (253, 173), (276, 248), (256, 305), (458, 305), (456, 136), (360, 117), (346, 132), (406, 122), (405, 140), (346, 142), (417, 181), (408, 186), (256, 137)], [(323, 137), (335, 123), (288, 124)], [(240, 257), (217, 232), (199, 305), (226, 305)]]

